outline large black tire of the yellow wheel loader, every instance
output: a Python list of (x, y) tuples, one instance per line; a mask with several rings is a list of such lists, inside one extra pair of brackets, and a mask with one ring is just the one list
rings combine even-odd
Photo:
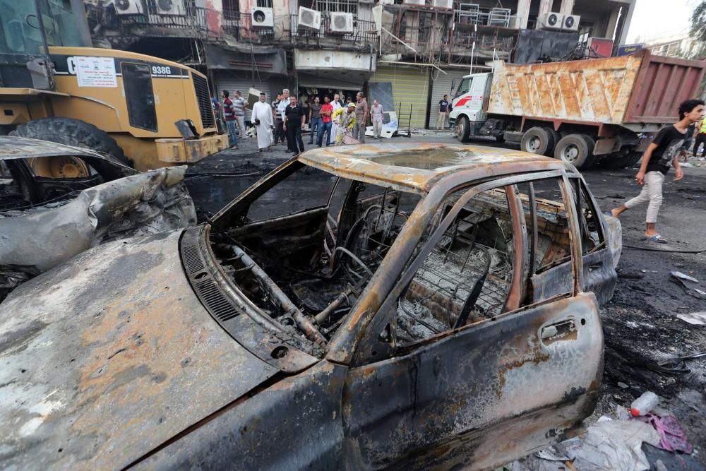
[(131, 165), (114, 138), (80, 119), (61, 117), (35, 119), (17, 126), (10, 135), (96, 150), (112, 155), (125, 165)]

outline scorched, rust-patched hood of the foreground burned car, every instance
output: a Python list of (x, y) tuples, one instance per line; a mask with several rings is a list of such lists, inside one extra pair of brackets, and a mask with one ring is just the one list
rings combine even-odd
[(193, 294), (180, 235), (90, 249), (0, 304), (1, 467), (125, 467), (277, 374)]

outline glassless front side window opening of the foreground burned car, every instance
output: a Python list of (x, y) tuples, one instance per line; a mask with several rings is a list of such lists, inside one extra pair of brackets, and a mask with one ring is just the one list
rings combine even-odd
[[(443, 229), (397, 301), (397, 345), (406, 347), (503, 312), (513, 280), (513, 225), (506, 189), (483, 191)], [(467, 189), (450, 195), (441, 222)], [(436, 232), (433, 231), (433, 232)], [(426, 245), (428, 237), (420, 243)]]

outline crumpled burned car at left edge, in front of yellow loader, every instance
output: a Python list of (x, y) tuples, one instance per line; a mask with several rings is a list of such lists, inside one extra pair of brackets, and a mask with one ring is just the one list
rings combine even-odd
[(144, 174), (110, 155), (0, 137), (0, 300), (91, 246), (196, 224), (186, 167)]

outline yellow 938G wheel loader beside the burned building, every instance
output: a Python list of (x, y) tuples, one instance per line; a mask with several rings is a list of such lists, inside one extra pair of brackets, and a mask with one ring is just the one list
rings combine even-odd
[[(113, 155), (139, 171), (227, 147), (206, 77), (176, 62), (91, 46), (83, 2), (0, 0), (0, 133)], [(80, 159), (35, 160), (78, 178)]]

